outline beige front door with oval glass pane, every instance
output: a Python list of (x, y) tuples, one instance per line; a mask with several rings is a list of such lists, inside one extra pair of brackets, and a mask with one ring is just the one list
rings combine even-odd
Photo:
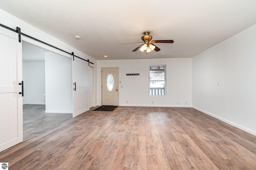
[(118, 106), (118, 68), (102, 68), (102, 105)]

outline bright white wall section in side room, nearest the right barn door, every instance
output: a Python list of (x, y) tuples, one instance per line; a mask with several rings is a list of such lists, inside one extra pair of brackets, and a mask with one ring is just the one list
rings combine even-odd
[(46, 113), (72, 113), (71, 59), (45, 53)]

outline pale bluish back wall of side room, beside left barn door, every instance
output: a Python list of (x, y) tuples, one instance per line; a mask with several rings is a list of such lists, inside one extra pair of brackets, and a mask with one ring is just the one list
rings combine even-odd
[(45, 69), (42, 62), (22, 62), (23, 104), (45, 104)]

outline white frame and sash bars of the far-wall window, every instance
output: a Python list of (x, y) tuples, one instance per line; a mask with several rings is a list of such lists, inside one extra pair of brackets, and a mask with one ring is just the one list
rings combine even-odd
[[(164, 80), (159, 80), (164, 82), (164, 89), (163, 91), (160, 91), (161, 89), (155, 89), (154, 92), (152, 88), (150, 88), (150, 82), (157, 81), (157, 80), (150, 80), (150, 67), (152, 66), (163, 66), (164, 67)], [(149, 96), (166, 96), (166, 64), (159, 64), (159, 65), (149, 65), (148, 67), (148, 95)], [(164, 95), (159, 95), (164, 93)]]

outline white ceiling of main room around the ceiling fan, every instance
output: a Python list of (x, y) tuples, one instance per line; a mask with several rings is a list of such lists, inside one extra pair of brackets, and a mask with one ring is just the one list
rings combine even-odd
[[(0, 8), (97, 60), (194, 57), (256, 24), (256, 0), (0, 0)], [(121, 45), (146, 30), (174, 43), (148, 54)]]

